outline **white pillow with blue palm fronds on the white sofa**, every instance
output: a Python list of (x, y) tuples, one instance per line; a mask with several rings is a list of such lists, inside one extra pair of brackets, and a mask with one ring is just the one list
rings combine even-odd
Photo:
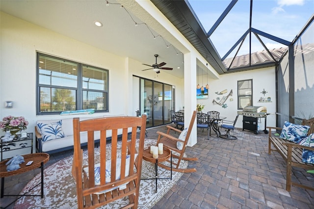
[(65, 137), (62, 130), (62, 120), (52, 123), (37, 123), (36, 125), (43, 136), (43, 141)]

